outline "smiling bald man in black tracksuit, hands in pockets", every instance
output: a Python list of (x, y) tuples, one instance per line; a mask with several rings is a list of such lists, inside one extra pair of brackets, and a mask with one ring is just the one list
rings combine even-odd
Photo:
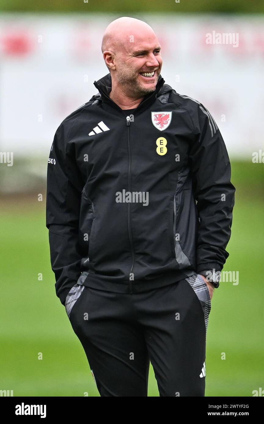
[(215, 120), (165, 84), (160, 50), (145, 22), (111, 22), (109, 73), (61, 123), (48, 160), (56, 295), (100, 396), (147, 396), (149, 361), (160, 396), (205, 396), (235, 187)]

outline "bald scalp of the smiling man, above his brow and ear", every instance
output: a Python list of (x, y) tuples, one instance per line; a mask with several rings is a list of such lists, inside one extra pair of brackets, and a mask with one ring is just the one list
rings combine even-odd
[(151, 26), (139, 19), (123, 16), (112, 21), (104, 31), (101, 50), (110, 50), (117, 54), (124, 50), (124, 45), (141, 39), (142, 36), (155, 36)]

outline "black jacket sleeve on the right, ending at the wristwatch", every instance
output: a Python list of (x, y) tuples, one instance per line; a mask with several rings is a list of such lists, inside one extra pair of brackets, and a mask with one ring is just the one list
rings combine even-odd
[[(196, 272), (222, 271), (229, 253), (234, 193), (225, 142), (202, 104), (194, 122), (197, 138), (190, 150), (191, 172), (199, 217)], [(197, 131), (198, 129), (198, 131)]]

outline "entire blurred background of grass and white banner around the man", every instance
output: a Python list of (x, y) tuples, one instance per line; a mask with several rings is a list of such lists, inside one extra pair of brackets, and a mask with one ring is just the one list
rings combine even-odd
[[(231, 161), (236, 201), (223, 271), (236, 282), (213, 295), (205, 396), (264, 396), (263, 13), (257, 0), (0, 0), (0, 390), (99, 396), (55, 294), (46, 173), (56, 129), (108, 73), (105, 28), (131, 16), (157, 33), (166, 84), (211, 112)], [(159, 396), (152, 366), (149, 396)]]

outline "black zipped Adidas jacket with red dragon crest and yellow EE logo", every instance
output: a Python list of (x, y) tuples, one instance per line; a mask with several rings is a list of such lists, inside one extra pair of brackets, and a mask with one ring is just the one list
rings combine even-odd
[(137, 293), (222, 271), (229, 256), (235, 188), (225, 143), (205, 106), (164, 82), (127, 117), (108, 74), (56, 130), (46, 226), (62, 304), (77, 281)]

